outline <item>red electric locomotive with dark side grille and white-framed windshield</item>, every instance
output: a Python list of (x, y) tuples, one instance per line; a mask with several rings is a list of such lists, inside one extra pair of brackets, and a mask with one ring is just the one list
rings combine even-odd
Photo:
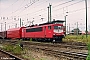
[(53, 21), (37, 26), (30, 26), (22, 29), (22, 38), (32, 38), (38, 41), (61, 42), (64, 37), (64, 21)]

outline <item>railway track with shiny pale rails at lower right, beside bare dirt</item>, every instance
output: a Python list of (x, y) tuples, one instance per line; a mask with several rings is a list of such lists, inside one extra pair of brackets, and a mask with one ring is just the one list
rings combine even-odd
[(71, 52), (71, 51), (65, 51), (65, 50), (55, 50), (55, 49), (50, 49), (50, 48), (43, 48), (43, 47), (37, 47), (37, 46), (29, 46), (30, 49), (32, 50), (42, 50), (44, 51), (45, 54), (47, 55), (52, 55), (55, 57), (61, 57), (62, 55), (67, 57), (67, 59), (73, 59), (73, 60), (86, 60), (87, 53), (83, 52)]

